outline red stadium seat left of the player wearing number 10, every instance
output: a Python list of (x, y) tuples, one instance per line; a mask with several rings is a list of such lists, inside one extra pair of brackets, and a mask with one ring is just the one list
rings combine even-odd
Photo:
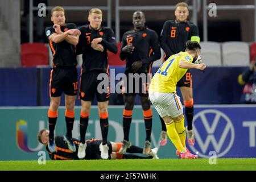
[(20, 47), (22, 67), (49, 65), (48, 48), (43, 43), (24, 43)]

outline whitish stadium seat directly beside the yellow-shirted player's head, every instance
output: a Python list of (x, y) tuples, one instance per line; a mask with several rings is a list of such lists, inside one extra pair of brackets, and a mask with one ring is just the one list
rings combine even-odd
[(221, 66), (221, 44), (217, 42), (201, 42), (203, 63), (207, 66)]

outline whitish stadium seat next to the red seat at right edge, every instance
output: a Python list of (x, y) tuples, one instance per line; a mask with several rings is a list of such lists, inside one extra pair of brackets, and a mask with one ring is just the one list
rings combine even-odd
[(249, 45), (245, 42), (225, 42), (222, 44), (222, 58), (224, 66), (249, 66)]

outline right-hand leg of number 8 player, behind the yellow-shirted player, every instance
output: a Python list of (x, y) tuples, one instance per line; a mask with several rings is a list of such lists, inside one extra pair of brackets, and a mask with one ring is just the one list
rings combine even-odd
[(194, 106), (193, 106), (193, 90), (185, 86), (180, 87), (181, 94), (183, 96), (184, 105), (185, 105), (185, 115), (187, 118), (187, 139), (188, 144), (193, 146), (195, 144), (195, 138), (193, 135), (193, 115), (194, 115)]

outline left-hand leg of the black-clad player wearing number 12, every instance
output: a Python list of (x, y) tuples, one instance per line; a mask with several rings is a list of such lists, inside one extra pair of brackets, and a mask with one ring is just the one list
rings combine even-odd
[(131, 118), (133, 116), (133, 106), (135, 102), (135, 96), (126, 95), (123, 96), (125, 101), (125, 109), (123, 109), (123, 144), (119, 150), (120, 154), (125, 154), (127, 148), (131, 146), (131, 142), (129, 142), (129, 133), (131, 126)]

